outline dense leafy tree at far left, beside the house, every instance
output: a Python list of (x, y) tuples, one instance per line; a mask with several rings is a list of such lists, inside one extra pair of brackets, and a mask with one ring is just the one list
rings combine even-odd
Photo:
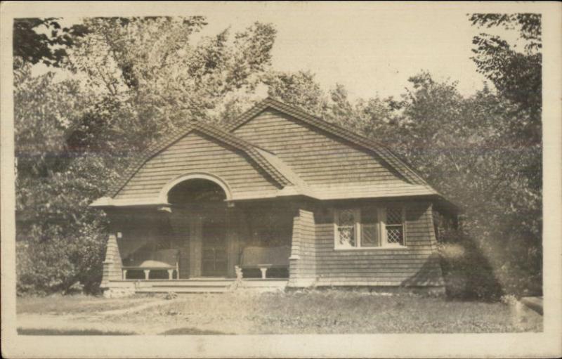
[[(68, 124), (88, 101), (75, 81), (53, 73), (15, 78), (16, 233), (18, 292), (64, 291), (80, 281), (96, 289), (105, 249), (103, 215), (91, 199), (115, 178), (107, 157), (70, 157)], [(113, 175), (113, 176), (112, 176)]]

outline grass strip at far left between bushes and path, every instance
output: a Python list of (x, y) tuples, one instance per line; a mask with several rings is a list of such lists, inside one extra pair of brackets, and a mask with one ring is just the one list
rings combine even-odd
[(18, 297), (15, 302), (16, 313), (34, 314), (79, 314), (111, 311), (140, 305), (147, 301), (158, 299), (153, 296), (133, 296), (128, 299), (103, 296), (52, 295), (52, 296), (24, 296)]

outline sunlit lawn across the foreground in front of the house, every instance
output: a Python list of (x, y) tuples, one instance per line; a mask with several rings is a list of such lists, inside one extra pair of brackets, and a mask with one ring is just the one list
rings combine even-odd
[[(503, 303), (448, 301), (426, 296), (383, 296), (336, 290), (287, 293), (190, 294), (163, 301), (142, 311), (103, 315), (105, 308), (126, 308), (143, 298), (80, 299), (63, 301), (58, 313), (72, 325), (113, 323), (120, 332), (138, 334), (354, 334), (354, 333), (481, 333), (540, 332), (542, 316), (533, 311), (516, 314)], [(30, 300), (30, 299), (27, 299)], [(41, 299), (46, 301), (47, 299)], [(89, 308), (86, 310), (86, 307)], [(18, 306), (19, 308), (19, 306)], [(25, 306), (34, 307), (31, 303)], [(109, 310), (109, 309), (107, 309)], [(84, 316), (86, 311), (95, 315)], [(25, 315), (26, 312), (20, 312)], [(43, 312), (40, 312), (43, 313)], [(31, 313), (29, 313), (31, 314)], [(72, 318), (71, 318), (72, 317)], [(25, 328), (23, 328), (25, 329)], [(22, 329), (22, 330), (23, 330)]]

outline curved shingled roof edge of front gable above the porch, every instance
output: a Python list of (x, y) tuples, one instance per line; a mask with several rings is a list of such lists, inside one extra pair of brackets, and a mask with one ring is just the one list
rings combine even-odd
[(204, 135), (215, 138), (216, 140), (221, 141), (226, 145), (230, 145), (233, 148), (242, 150), (252, 160), (254, 160), (254, 162), (261, 169), (263, 169), (263, 171), (265, 171), (271, 178), (273, 178), (273, 181), (280, 184), (282, 187), (292, 184), (291, 179), (289, 179), (292, 174), (287, 174), (285, 168), (277, 168), (281, 160), (277, 159), (275, 161), (272, 161), (275, 155), (268, 153), (268, 155), (264, 156), (263, 152), (265, 151), (260, 150), (247, 141), (242, 140), (242, 138), (234, 136), (233, 133), (225, 132), (210, 124), (202, 124), (201, 122), (193, 121), (183, 129), (169, 133), (167, 136), (164, 136), (164, 138), (160, 138), (159, 141), (155, 141), (155, 143), (149, 145), (148, 148), (143, 151), (135, 161), (131, 163), (129, 168), (126, 169), (122, 178), (110, 187), (110, 189), (107, 191), (107, 196), (115, 197), (115, 195), (117, 195), (117, 193), (122, 190), (122, 188), (124, 188), (126, 183), (128, 183), (131, 178), (133, 178), (137, 171), (141, 169), (141, 167), (143, 167), (143, 164), (145, 164), (149, 159), (157, 155), (159, 152), (168, 148), (170, 145), (172, 145), (176, 141), (179, 141), (181, 138), (187, 136), (191, 132), (203, 133)]

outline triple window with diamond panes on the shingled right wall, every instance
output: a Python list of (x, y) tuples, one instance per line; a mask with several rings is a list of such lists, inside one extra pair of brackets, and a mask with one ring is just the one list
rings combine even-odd
[(401, 206), (338, 209), (334, 211), (334, 247), (405, 247), (404, 218)]

